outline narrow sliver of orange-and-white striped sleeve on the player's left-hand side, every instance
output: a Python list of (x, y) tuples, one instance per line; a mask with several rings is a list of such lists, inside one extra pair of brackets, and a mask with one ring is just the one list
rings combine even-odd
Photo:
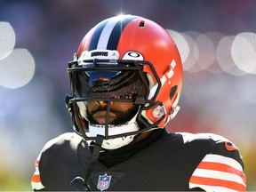
[[(41, 152), (42, 153), (42, 152)], [(40, 158), (41, 158), (41, 153), (40, 155), (36, 158), (36, 163), (35, 163), (35, 172), (32, 176), (31, 179), (31, 187), (34, 191), (36, 190), (44, 190), (44, 185), (42, 184), (41, 181), (41, 175), (40, 175), (40, 171), (39, 171), (39, 164), (40, 164)]]

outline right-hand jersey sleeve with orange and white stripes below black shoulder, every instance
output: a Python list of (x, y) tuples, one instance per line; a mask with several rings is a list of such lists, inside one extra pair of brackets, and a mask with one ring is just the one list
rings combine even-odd
[(224, 138), (211, 138), (216, 142), (211, 151), (197, 165), (189, 180), (189, 188), (205, 191), (246, 191), (244, 162), (239, 149)]

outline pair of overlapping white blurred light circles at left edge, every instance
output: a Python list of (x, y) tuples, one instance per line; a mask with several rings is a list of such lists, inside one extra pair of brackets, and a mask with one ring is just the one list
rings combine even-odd
[(15, 33), (9, 23), (0, 22), (0, 31), (0, 85), (10, 89), (22, 87), (34, 76), (34, 58), (27, 49), (13, 50)]

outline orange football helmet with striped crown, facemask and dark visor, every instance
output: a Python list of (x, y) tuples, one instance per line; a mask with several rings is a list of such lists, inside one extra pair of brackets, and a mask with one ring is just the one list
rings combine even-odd
[[(68, 63), (67, 104), (75, 131), (85, 140), (95, 140), (99, 134), (104, 140), (130, 138), (109, 147), (119, 148), (140, 132), (164, 128), (179, 110), (182, 73), (176, 44), (156, 22), (134, 15), (101, 21), (84, 36)], [(106, 124), (95, 125), (86, 116), (87, 102), (92, 100), (108, 105), (133, 102), (138, 108), (124, 124), (108, 124), (108, 114)]]

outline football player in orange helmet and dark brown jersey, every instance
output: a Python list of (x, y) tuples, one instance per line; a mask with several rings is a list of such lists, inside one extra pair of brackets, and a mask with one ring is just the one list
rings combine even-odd
[(68, 75), (75, 132), (46, 143), (34, 190), (246, 190), (232, 142), (164, 129), (179, 111), (182, 64), (156, 22), (101, 21), (84, 36)]

